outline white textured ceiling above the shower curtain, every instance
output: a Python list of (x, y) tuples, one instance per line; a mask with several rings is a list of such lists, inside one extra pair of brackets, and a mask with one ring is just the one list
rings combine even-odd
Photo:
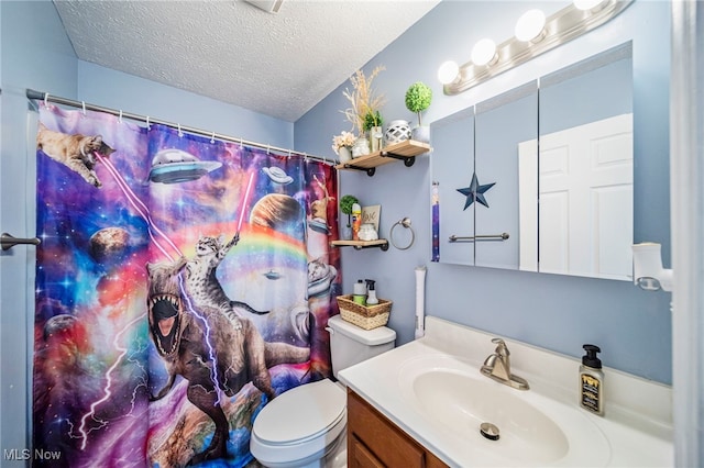
[(54, 0), (78, 58), (295, 122), (440, 0)]

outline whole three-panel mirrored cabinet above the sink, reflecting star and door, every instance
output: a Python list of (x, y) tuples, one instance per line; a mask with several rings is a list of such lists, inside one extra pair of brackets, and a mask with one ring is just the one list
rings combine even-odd
[(431, 124), (440, 263), (630, 280), (631, 55), (624, 44)]

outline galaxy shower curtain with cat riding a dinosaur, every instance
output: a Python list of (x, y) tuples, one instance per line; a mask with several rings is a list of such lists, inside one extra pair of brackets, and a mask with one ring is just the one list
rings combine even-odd
[(41, 108), (34, 465), (246, 465), (263, 405), (330, 376), (334, 168)]

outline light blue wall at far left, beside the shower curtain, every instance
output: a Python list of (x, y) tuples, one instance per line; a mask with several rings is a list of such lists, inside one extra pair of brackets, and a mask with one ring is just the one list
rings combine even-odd
[[(34, 232), (35, 186), (25, 88), (75, 98), (77, 60), (51, 2), (2, 1), (0, 22), (0, 227), (26, 237)], [(0, 449), (29, 447), (24, 427), (31, 408), (33, 275), (33, 248), (0, 253)], [(6, 463), (13, 465), (1, 465)]]

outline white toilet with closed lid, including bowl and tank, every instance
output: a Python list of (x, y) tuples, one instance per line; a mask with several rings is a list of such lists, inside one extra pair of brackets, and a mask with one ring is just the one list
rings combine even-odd
[[(394, 347), (396, 332), (381, 326), (363, 330), (340, 315), (328, 320), (332, 372)], [(254, 420), (250, 452), (265, 467), (346, 466), (346, 391), (323, 379), (276, 397)]]

